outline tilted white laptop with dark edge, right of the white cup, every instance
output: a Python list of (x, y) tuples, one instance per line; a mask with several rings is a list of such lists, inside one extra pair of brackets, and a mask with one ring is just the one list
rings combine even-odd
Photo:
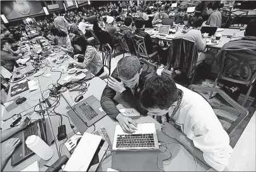
[(63, 171), (96, 171), (108, 146), (102, 136), (84, 132)]

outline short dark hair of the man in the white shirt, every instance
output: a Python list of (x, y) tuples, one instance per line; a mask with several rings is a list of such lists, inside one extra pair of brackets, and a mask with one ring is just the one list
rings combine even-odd
[(141, 92), (145, 109), (169, 109), (178, 99), (178, 89), (171, 77), (154, 76), (148, 79)]

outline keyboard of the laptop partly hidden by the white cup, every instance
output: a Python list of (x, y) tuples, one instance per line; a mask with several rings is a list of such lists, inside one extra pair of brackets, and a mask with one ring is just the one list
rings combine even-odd
[(23, 136), (24, 136), (23, 143), (22, 143), (23, 144), (23, 157), (26, 157), (33, 153), (33, 151), (31, 149), (29, 149), (25, 144), (26, 139), (32, 135), (37, 136), (37, 122), (32, 122), (32, 124), (30, 124), (28, 127), (26, 127), (23, 130)]

